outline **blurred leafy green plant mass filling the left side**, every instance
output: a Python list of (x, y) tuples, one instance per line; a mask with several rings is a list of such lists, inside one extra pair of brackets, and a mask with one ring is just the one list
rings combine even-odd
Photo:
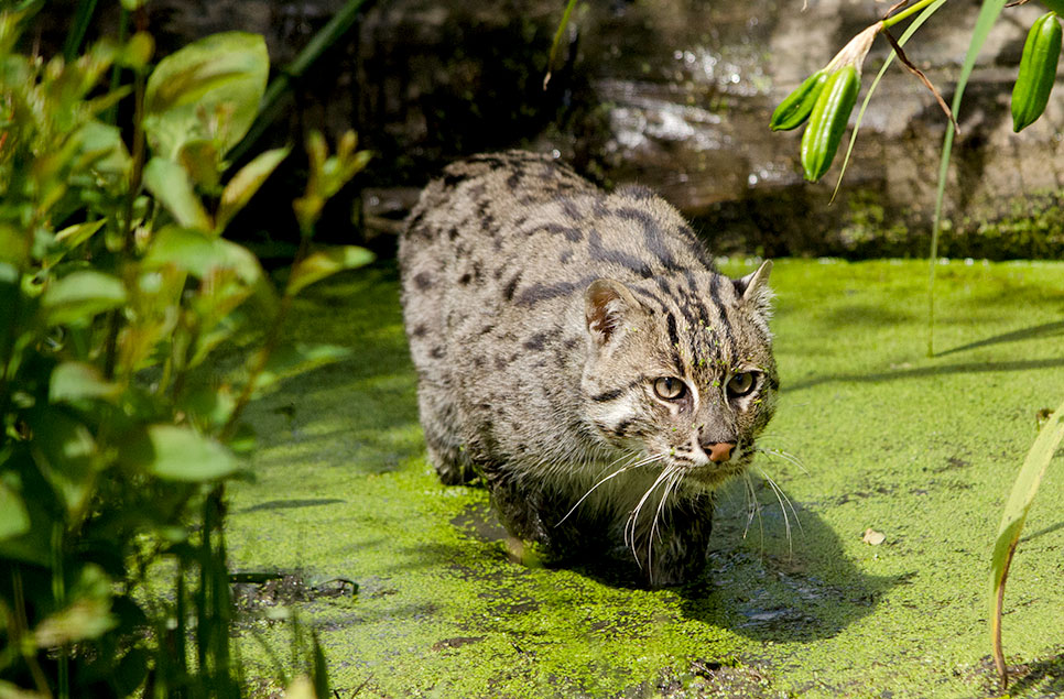
[[(333, 156), (311, 138), (304, 244), (279, 293), (221, 238), (287, 155), (228, 174), (265, 90), (262, 37), (208, 36), (150, 69), (145, 33), (69, 61), (22, 55), (28, 20), (0, 13), (0, 693), (238, 696), (230, 445), (257, 391), (347, 356), (279, 347), (278, 329), (305, 286), (370, 261), (310, 244), (369, 155), (354, 134)], [(131, 84), (107, 89), (116, 66)], [(123, 133), (102, 114), (128, 99)], [(263, 320), (247, 365), (213, 365)], [(161, 566), (165, 600), (142, 593)]]

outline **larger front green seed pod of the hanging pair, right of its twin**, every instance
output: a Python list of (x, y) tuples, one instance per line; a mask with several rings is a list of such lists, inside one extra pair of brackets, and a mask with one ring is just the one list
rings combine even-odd
[(853, 65), (827, 76), (824, 89), (813, 106), (813, 113), (810, 114), (810, 123), (802, 134), (802, 167), (810, 182), (823, 177), (832, 166), (849, 114), (857, 103), (860, 86), (857, 68)]

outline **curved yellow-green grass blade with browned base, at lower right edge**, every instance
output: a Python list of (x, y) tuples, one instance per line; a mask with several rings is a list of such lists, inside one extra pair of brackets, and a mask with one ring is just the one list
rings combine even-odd
[(1039, 432), (1038, 438), (1023, 461), (1023, 468), (1012, 483), (1009, 502), (1001, 515), (1001, 526), (998, 527), (998, 539), (994, 544), (994, 556), (990, 559), (990, 636), (994, 644), (994, 664), (1001, 678), (1001, 688), (1008, 684), (1005, 666), (1005, 653), (1001, 649), (1001, 607), (1005, 601), (1005, 581), (1009, 577), (1009, 565), (1016, 553), (1023, 522), (1031, 510), (1031, 502), (1042, 483), (1045, 469), (1056, 455), (1061, 441), (1064, 440), (1064, 403), (1053, 413)]

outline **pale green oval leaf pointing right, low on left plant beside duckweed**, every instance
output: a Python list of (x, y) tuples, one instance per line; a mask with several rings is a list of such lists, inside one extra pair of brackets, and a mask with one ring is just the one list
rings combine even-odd
[(172, 481), (211, 481), (237, 470), (237, 459), (218, 441), (189, 427), (152, 425), (122, 447), (128, 467)]

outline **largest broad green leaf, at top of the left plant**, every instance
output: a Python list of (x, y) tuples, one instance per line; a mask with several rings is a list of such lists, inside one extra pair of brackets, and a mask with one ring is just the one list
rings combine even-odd
[(243, 32), (206, 36), (160, 61), (144, 91), (154, 152), (174, 160), (195, 139), (228, 151), (254, 121), (269, 73), (265, 41)]

